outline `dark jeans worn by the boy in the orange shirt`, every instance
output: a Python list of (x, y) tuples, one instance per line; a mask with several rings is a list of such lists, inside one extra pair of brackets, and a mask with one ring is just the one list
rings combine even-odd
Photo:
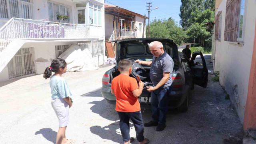
[(128, 142), (130, 138), (130, 123), (129, 120), (131, 118), (135, 132), (136, 132), (136, 138), (139, 142), (142, 142), (144, 140), (144, 125), (142, 121), (141, 112), (117, 112), (118, 116), (120, 118), (120, 130), (123, 137), (124, 142)]

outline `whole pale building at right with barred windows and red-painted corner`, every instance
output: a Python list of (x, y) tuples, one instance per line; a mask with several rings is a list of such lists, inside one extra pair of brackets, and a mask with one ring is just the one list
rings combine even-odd
[(244, 130), (256, 128), (256, 0), (216, 0), (215, 7), (214, 71)]

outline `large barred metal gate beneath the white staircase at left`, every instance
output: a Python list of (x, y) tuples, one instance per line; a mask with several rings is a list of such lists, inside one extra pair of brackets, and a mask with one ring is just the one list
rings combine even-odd
[(34, 74), (32, 48), (20, 48), (7, 64), (9, 79)]

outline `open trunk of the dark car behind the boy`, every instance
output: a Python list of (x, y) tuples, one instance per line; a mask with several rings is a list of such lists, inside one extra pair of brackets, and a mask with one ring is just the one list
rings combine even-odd
[[(144, 60), (152, 61), (153, 55), (149, 50), (148, 43), (153, 41), (159, 41), (163, 44), (163, 48), (167, 54), (169, 54), (174, 61), (174, 69), (178, 69), (178, 48), (177, 45), (169, 39), (159, 39), (159, 38), (136, 38), (136, 39), (124, 39), (114, 41), (117, 44), (116, 48), (116, 67), (111, 72), (111, 79), (118, 76), (120, 72), (118, 71), (118, 62), (122, 59), (133, 59), (133, 60)], [(149, 75), (150, 66), (143, 66), (146, 73)], [(132, 76), (132, 75), (130, 75)], [(134, 76), (132, 76), (134, 77)], [(136, 78), (136, 77), (135, 77)], [(142, 82), (145, 82), (142, 80)], [(151, 82), (151, 81), (150, 81)], [(150, 97), (150, 92), (143, 90), (141, 97)]]

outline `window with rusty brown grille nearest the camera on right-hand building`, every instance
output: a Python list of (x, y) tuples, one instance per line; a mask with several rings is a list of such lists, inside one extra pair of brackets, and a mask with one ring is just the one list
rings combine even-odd
[(244, 31), (244, 0), (227, 0), (224, 41), (242, 40)]

